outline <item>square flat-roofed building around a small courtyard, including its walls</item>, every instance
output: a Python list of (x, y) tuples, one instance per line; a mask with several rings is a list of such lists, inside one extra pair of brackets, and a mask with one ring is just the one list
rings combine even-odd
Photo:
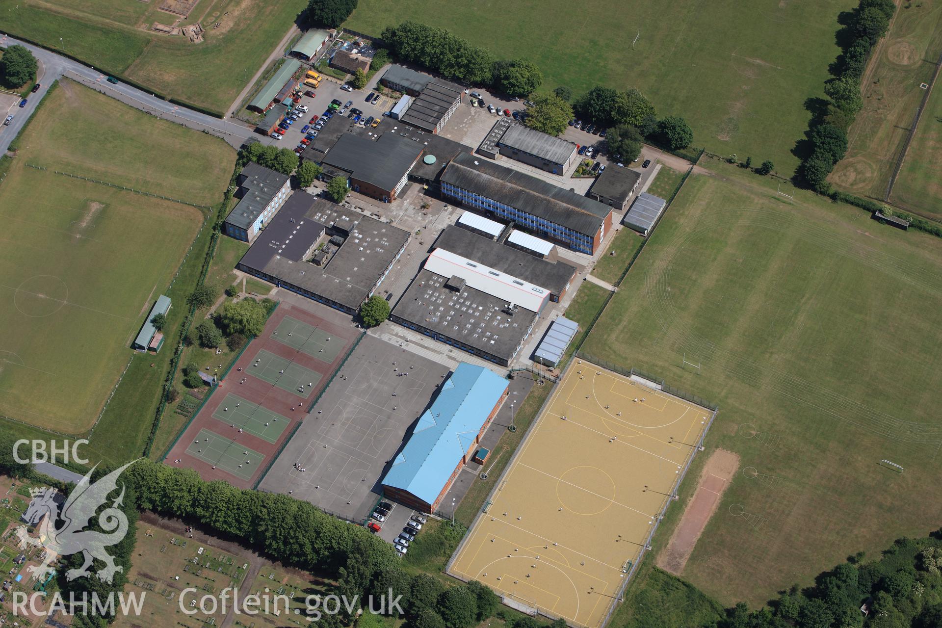
[(409, 232), (296, 190), (236, 267), (356, 314), (408, 241)]

